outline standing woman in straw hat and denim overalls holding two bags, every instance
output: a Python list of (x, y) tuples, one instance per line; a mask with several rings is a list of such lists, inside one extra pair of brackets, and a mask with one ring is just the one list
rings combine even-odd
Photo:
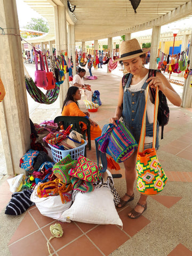
[[(142, 51), (137, 39), (131, 39), (121, 44), (121, 57), (115, 61), (123, 61), (124, 68), (127, 73), (131, 75), (131, 81), (127, 81), (126, 86), (120, 83), (119, 98), (115, 111), (115, 117), (110, 118), (110, 123), (116, 125), (115, 120), (123, 117), (123, 122), (127, 129), (131, 131), (135, 140), (139, 143), (143, 111), (145, 108), (146, 87), (148, 83), (152, 88), (161, 90), (167, 99), (175, 106), (181, 105), (181, 99), (177, 92), (166, 79), (166, 77), (157, 72), (156, 76), (149, 77), (149, 69), (145, 68), (144, 61), (146, 52), (149, 49)], [(114, 61), (114, 62), (115, 62)], [(150, 90), (149, 90), (150, 91)], [(142, 93), (145, 92), (145, 93)], [(147, 121), (146, 121), (146, 140), (145, 147), (152, 148), (153, 142), (153, 119), (154, 119), (154, 104), (151, 102), (151, 95), (147, 101)], [(156, 136), (156, 150), (158, 149), (158, 124)], [(136, 178), (137, 151), (124, 162), (125, 166), (125, 179), (126, 179), (126, 193), (121, 198), (118, 207), (124, 207), (128, 202), (134, 199), (133, 184)], [(147, 209), (147, 196), (141, 194), (139, 202), (134, 209), (129, 213), (129, 217), (136, 219)]]

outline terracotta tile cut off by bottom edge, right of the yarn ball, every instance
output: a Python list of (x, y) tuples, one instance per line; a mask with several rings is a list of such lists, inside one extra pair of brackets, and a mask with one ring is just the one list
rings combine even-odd
[(101, 256), (100, 251), (95, 247), (91, 241), (86, 237), (79, 237), (73, 243), (67, 245), (62, 250), (58, 251), (59, 256)]

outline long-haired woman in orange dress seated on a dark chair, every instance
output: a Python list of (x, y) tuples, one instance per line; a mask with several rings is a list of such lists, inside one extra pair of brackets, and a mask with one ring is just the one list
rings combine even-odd
[[(61, 111), (62, 116), (84, 116), (89, 119), (91, 124), (91, 140), (101, 136), (101, 129), (97, 123), (90, 119), (89, 112), (83, 112), (78, 107), (77, 100), (81, 100), (81, 93), (76, 86), (69, 87), (66, 99), (63, 102)], [(85, 125), (85, 124), (84, 124)]]

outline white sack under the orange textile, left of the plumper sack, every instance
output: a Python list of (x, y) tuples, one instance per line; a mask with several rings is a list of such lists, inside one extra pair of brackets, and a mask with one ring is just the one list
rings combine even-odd
[[(33, 193), (30, 196), (30, 200), (34, 202), (42, 215), (50, 217), (55, 220), (66, 222), (65, 218), (60, 219), (60, 215), (63, 211), (69, 209), (72, 201), (62, 204), (60, 195), (58, 196), (48, 196), (48, 197), (38, 197), (37, 187), (35, 187)], [(68, 192), (72, 194), (72, 190)]]

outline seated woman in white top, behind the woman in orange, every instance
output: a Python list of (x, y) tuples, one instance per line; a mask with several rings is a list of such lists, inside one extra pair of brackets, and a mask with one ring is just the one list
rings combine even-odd
[(84, 89), (87, 100), (92, 101), (93, 90), (91, 90), (91, 85), (84, 84), (83, 77), (85, 76), (85, 73), (85, 69), (79, 67), (78, 73), (73, 77), (73, 85)]

